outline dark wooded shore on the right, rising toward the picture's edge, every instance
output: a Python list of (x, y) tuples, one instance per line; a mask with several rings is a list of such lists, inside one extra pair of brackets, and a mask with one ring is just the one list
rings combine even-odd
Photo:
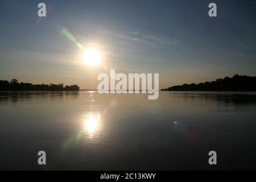
[(200, 84), (183, 84), (172, 86), (166, 91), (256, 91), (256, 77), (234, 75)]

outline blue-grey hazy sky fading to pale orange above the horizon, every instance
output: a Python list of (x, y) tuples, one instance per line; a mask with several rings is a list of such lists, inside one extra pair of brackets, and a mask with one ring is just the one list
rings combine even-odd
[[(40, 2), (51, 8), (37, 23)], [(211, 2), (217, 17), (208, 16)], [(168, 88), (256, 76), (254, 0), (1, 0), (0, 17), (0, 80), (96, 89), (97, 75), (115, 68), (159, 73)], [(100, 51), (101, 65), (83, 63), (87, 48)]]

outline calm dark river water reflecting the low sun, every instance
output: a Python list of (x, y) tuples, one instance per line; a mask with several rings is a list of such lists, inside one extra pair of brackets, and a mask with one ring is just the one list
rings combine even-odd
[(0, 92), (0, 116), (0, 169), (256, 169), (255, 92)]

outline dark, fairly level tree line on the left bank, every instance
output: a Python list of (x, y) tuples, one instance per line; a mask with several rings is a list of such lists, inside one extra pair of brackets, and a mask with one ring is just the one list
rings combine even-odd
[(31, 84), (18, 82), (12, 79), (10, 82), (7, 80), (0, 80), (0, 91), (77, 91), (78, 85), (64, 86), (61, 84)]

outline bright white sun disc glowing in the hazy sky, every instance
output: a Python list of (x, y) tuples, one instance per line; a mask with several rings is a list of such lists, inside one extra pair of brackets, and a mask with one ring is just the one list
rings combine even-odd
[(99, 65), (101, 64), (101, 53), (94, 48), (85, 49), (83, 59), (84, 63), (89, 66)]

